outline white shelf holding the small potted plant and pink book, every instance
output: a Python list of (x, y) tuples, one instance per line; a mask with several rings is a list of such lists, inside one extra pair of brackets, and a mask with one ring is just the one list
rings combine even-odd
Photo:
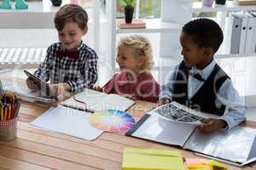
[(116, 26), (116, 33), (160, 33), (181, 31), (182, 25), (172, 22), (162, 22), (160, 19), (144, 20), (147, 28), (120, 29)]

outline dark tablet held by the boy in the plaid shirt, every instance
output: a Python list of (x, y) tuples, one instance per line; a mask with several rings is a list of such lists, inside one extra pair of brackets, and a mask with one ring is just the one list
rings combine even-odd
[(56, 99), (55, 94), (49, 90), (49, 84), (48, 83), (44, 82), (39, 77), (36, 77), (36, 76), (32, 75), (28, 71), (24, 71), (24, 72), (25, 72), (27, 77), (31, 78), (32, 81), (37, 83), (38, 88), (40, 89), (41, 97)]

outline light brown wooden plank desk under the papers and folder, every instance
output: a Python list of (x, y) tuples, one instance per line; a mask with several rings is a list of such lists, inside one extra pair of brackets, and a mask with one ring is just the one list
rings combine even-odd
[[(137, 105), (134, 105), (129, 112), (138, 120), (143, 116), (144, 111), (153, 107), (152, 103), (137, 101)], [(48, 108), (45, 105), (22, 102), (17, 138), (10, 142), (0, 142), (0, 170), (120, 170), (125, 146), (177, 149), (164, 144), (127, 137), (121, 133), (103, 133), (94, 141), (86, 141), (61, 133), (27, 127), (29, 122), (32, 122)], [(250, 126), (255, 126), (255, 124), (252, 123)], [(183, 150), (183, 156), (196, 157), (187, 150)], [(230, 167), (231, 170), (241, 169), (230, 165), (227, 167)], [(254, 163), (253, 167), (244, 169), (254, 170), (255, 167)]]

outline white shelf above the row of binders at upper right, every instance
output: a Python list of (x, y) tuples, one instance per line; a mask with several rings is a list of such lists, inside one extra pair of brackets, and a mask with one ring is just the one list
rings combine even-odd
[(217, 11), (240, 11), (240, 10), (256, 10), (256, 5), (237, 5), (233, 1), (227, 1), (225, 5), (215, 5), (212, 7), (205, 7), (201, 2), (192, 3), (192, 13), (209, 13), (209, 12), (217, 12)]

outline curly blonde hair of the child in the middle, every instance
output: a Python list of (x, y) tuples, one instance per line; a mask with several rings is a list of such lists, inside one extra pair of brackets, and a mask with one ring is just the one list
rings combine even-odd
[(118, 48), (123, 45), (134, 48), (135, 57), (145, 56), (145, 65), (143, 65), (143, 69), (146, 69), (146, 70), (152, 69), (154, 65), (152, 47), (147, 37), (143, 37), (139, 35), (122, 37), (119, 41)]

